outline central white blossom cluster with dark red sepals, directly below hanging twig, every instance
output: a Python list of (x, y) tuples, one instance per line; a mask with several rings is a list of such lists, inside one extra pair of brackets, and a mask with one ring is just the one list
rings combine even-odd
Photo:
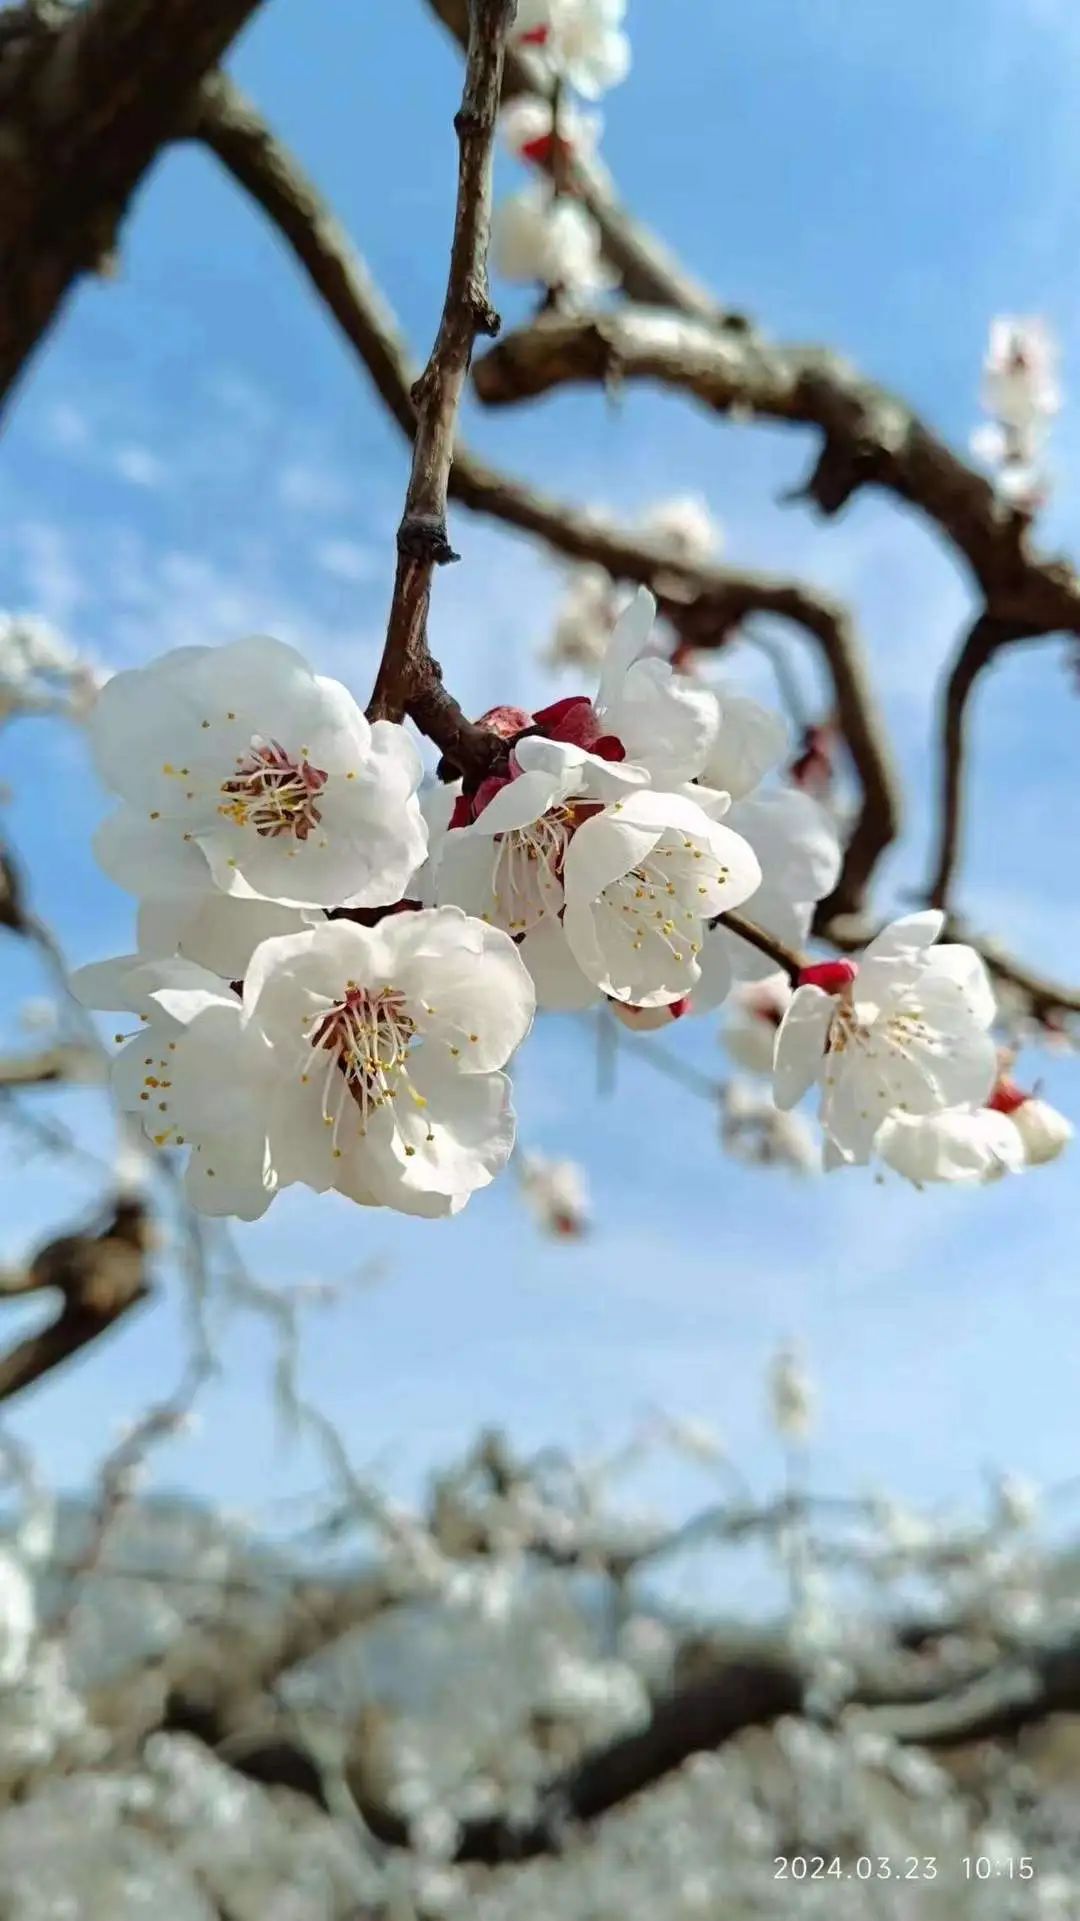
[(734, 978), (771, 972), (717, 916), (753, 897), (759, 926), (801, 939), (836, 880), (817, 803), (755, 791), (784, 753), (782, 722), (648, 655), (653, 615), (638, 592), (596, 697), (523, 715), (505, 776), (444, 797), (432, 826), (425, 897), (521, 941), (546, 1009), (607, 997), (667, 1020), (717, 1007)]

